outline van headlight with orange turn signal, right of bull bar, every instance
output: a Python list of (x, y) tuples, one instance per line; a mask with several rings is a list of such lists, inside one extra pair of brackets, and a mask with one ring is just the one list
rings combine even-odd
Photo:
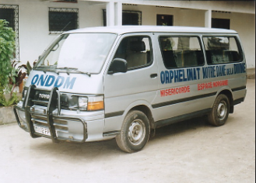
[(103, 95), (61, 94), (61, 109), (98, 111), (104, 109)]

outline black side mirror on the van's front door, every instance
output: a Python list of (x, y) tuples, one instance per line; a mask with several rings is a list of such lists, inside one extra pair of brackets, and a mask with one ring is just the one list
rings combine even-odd
[(114, 74), (117, 72), (127, 72), (127, 61), (122, 58), (115, 58), (110, 64), (107, 74)]

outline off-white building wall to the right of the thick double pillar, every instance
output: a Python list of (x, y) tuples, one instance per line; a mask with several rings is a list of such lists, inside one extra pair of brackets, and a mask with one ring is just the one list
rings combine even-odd
[[(205, 11), (199, 9), (160, 8), (155, 5), (123, 5), (123, 10), (142, 12), (142, 25), (156, 26), (156, 15), (173, 15), (174, 26), (205, 26)], [(237, 12), (212, 12), (212, 18), (230, 19), (230, 29), (240, 34), (247, 68), (255, 67), (255, 17)]]

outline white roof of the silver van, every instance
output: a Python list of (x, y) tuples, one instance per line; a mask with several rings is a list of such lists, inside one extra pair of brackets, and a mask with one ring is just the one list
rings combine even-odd
[(193, 26), (99, 26), (70, 30), (66, 33), (237, 33), (231, 29)]

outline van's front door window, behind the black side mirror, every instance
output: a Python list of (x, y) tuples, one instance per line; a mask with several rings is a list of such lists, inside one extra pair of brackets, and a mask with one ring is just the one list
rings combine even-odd
[(127, 61), (128, 70), (146, 67), (152, 63), (152, 49), (149, 36), (128, 36), (121, 40), (114, 58)]

